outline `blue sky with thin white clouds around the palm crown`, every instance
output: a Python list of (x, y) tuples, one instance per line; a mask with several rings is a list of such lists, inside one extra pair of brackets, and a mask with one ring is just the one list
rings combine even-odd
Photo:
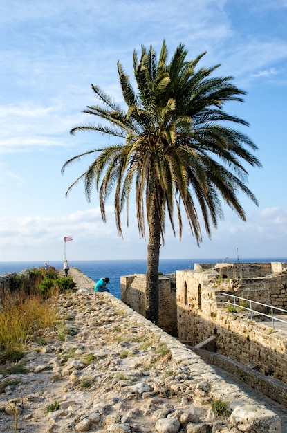
[[(198, 66), (221, 66), (247, 92), (225, 107), (248, 121), (262, 168), (248, 169), (257, 207), (239, 196), (246, 222), (225, 218), (197, 246), (184, 222), (180, 241), (167, 222), (162, 259), (287, 257), (286, 92), (287, 0), (0, 0), (0, 261), (146, 259), (131, 203), (119, 237), (113, 201), (102, 222), (98, 195), (86, 201), (80, 183), (88, 166), (69, 158), (113, 138), (70, 129), (92, 119), (91, 84), (122, 104), (117, 62), (132, 75), (133, 51), (167, 43), (169, 57), (185, 44)], [(124, 105), (123, 105), (124, 107)]]

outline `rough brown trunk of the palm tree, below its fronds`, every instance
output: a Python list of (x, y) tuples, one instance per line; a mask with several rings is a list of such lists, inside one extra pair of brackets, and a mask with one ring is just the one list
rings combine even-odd
[(160, 259), (160, 216), (156, 200), (149, 209), (149, 244), (145, 287), (145, 317), (158, 324), (158, 266)]

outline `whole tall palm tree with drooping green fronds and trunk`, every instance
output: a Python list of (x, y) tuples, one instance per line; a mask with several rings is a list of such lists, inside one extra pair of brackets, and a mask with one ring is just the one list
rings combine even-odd
[[(246, 186), (248, 172), (243, 163), (260, 167), (252, 154), (256, 145), (230, 125), (248, 123), (223, 110), (228, 101), (243, 101), (245, 92), (232, 84), (232, 77), (212, 77), (219, 68), (198, 68), (202, 53), (187, 60), (187, 50), (180, 44), (168, 62), (165, 41), (159, 58), (155, 50), (144, 46), (140, 59), (133, 53), (133, 73), (137, 90), (118, 62), (118, 75), (127, 108), (116, 104), (98, 86), (92, 85), (100, 104), (87, 107), (84, 113), (104, 120), (98, 125), (80, 125), (71, 129), (95, 131), (120, 138), (120, 144), (86, 151), (64, 164), (64, 169), (83, 156), (96, 154), (86, 172), (68, 188), (84, 181), (88, 201), (95, 187), (99, 193), (102, 219), (106, 221), (105, 201), (114, 192), (115, 221), (122, 236), (121, 214), (136, 190), (136, 210), (140, 237), (148, 228), (146, 317), (158, 322), (158, 264), (160, 245), (164, 243), (165, 219), (168, 214), (174, 234), (177, 214), (179, 237), (182, 235), (182, 212), (197, 244), (201, 243), (201, 211), (205, 230), (223, 219), (221, 201), (239, 218), (246, 214), (238, 193), (244, 192), (254, 203), (257, 199)], [(226, 126), (228, 125), (228, 126)]]

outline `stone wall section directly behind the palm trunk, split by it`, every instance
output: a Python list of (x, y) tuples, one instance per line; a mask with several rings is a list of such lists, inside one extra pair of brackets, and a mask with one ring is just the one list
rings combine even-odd
[[(120, 277), (120, 299), (145, 317), (145, 275)], [(177, 335), (176, 288), (172, 279), (165, 276), (159, 277), (158, 326), (170, 335)]]

